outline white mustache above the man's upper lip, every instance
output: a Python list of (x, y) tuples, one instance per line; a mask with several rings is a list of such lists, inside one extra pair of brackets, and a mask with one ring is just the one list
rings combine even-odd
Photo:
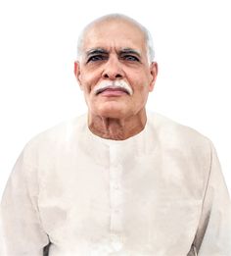
[(106, 89), (115, 89), (115, 88), (121, 88), (122, 90), (124, 90), (125, 92), (127, 92), (129, 95), (133, 94), (133, 90), (130, 86), (130, 84), (128, 84), (126, 81), (124, 80), (102, 80), (99, 84), (97, 84), (94, 88), (93, 88), (93, 92), (97, 95), (99, 93), (101, 93), (102, 91), (106, 90)]

